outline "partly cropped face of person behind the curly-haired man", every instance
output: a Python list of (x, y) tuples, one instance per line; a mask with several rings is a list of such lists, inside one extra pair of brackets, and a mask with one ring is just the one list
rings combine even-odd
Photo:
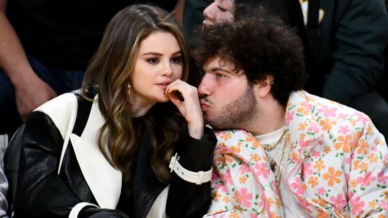
[(204, 11), (203, 25), (234, 21), (234, 0), (214, 0)]

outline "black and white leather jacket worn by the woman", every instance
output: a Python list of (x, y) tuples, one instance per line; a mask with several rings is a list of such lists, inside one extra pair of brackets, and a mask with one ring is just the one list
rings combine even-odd
[[(82, 117), (87, 119), (76, 121)], [(156, 216), (150, 210), (164, 206), (161, 195), (168, 195), (165, 210), (160, 210), (167, 217), (196, 218), (207, 212), (210, 182), (196, 185), (173, 172), (169, 186), (161, 183), (150, 165), (147, 132), (134, 162), (132, 193), (124, 194), (121, 171), (109, 164), (97, 145), (104, 122), (97, 101), (88, 102), (76, 93), (60, 95), (32, 112), (13, 139), (22, 143), (16, 218), (148, 218)], [(179, 164), (190, 171), (209, 171), (215, 144), (210, 129), (202, 140), (186, 134), (175, 146)]]

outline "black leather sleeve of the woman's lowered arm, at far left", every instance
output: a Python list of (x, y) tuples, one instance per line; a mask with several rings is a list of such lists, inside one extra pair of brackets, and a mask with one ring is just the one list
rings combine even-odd
[[(22, 144), (15, 217), (68, 218), (71, 209), (81, 200), (57, 173), (64, 143), (60, 131), (47, 114), (35, 111), (26, 121), (23, 134), (17, 135), (22, 137)], [(78, 217), (87, 218), (99, 212), (107, 213), (86, 208)], [(111, 214), (114, 215), (105, 217), (120, 217), (115, 212)]]

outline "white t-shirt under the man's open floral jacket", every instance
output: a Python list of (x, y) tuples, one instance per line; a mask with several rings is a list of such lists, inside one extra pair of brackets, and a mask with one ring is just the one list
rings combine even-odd
[[(284, 129), (286, 126), (282, 126), (280, 129), (276, 130), (275, 132), (271, 132), (265, 135), (255, 136), (257, 140), (259, 140), (260, 144), (263, 145), (273, 145), (275, 144), (280, 137), (282, 136)], [(276, 169), (275, 169), (275, 176), (277, 175), (280, 167), (280, 160), (283, 153), (283, 147), (284, 147), (284, 141), (285, 137), (283, 137), (283, 140), (271, 151), (265, 151), (268, 157), (271, 157), (276, 162)], [(286, 185), (286, 164), (287, 164), (287, 156), (289, 153), (289, 146), (286, 146), (286, 153), (284, 154), (283, 158), (283, 170), (280, 178), (280, 184), (278, 187), (280, 199), (283, 204), (283, 211), (285, 218), (307, 218), (310, 217), (301, 206), (299, 206), (299, 203), (296, 199), (293, 198), (293, 194), (291, 191), (287, 188)]]

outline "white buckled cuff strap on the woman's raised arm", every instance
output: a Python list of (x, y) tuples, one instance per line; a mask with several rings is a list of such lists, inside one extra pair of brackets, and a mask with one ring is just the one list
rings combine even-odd
[(178, 153), (176, 153), (175, 156), (171, 157), (170, 165), (168, 167), (171, 169), (171, 172), (174, 171), (183, 180), (187, 182), (195, 183), (197, 185), (201, 185), (202, 183), (206, 183), (210, 181), (211, 171), (213, 170), (213, 168), (211, 168), (210, 171), (206, 171), (206, 172), (188, 171), (179, 164), (178, 160), (179, 160), (179, 156), (178, 156)]

